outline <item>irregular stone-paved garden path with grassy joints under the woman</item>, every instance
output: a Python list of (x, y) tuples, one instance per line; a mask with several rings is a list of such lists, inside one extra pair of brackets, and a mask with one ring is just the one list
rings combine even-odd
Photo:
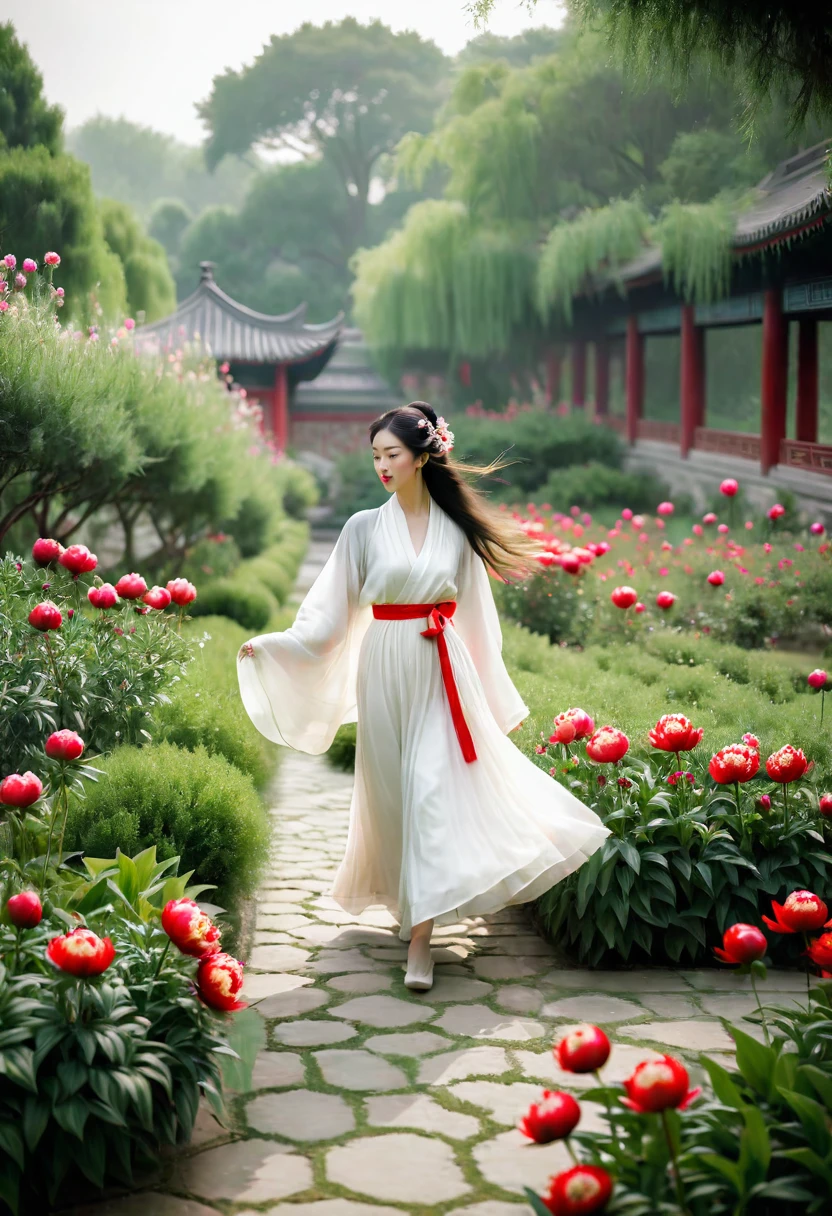
[[(327, 552), (310, 552), (299, 589)], [(556, 1066), (551, 1045), (566, 1028), (606, 1029), (613, 1081), (656, 1049), (680, 1054), (692, 1076), (699, 1051), (730, 1063), (718, 1019), (755, 1007), (747, 981), (727, 970), (563, 970), (523, 908), (439, 929), (434, 986), (410, 992), (393, 917), (350, 916), (326, 894), (352, 784), (322, 756), (281, 756), (243, 990), (268, 1041), (252, 1092), (232, 1098), (234, 1127), (204, 1113), (157, 1190), (85, 1216), (528, 1216), (523, 1187), (543, 1189), (568, 1158), (525, 1141), (517, 1120), (544, 1087), (595, 1083)], [(804, 984), (772, 975), (766, 993)], [(581, 1127), (592, 1126), (598, 1110), (584, 1103)]]

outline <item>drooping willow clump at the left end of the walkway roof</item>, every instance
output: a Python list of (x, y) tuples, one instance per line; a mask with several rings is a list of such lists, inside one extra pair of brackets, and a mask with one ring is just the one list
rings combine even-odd
[(639, 198), (619, 198), (557, 224), (538, 266), (536, 299), (544, 320), (556, 313), (570, 322), (573, 300), (591, 276), (605, 271), (614, 277), (643, 248), (650, 232), (650, 215)]

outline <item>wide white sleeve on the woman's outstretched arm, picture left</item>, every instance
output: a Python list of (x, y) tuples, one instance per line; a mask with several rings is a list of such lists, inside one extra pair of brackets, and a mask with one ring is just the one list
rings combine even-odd
[(359, 516), (344, 524), (291, 629), (253, 637), (237, 655), (240, 694), (254, 726), (272, 743), (311, 755), (358, 717), (358, 657), (372, 619), (372, 607), (359, 603), (366, 531)]

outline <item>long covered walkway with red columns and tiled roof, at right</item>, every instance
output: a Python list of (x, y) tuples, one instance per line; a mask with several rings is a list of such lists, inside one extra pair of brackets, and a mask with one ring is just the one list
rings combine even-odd
[[(832, 511), (832, 435), (819, 441), (819, 331), (832, 322), (828, 148), (825, 142), (792, 157), (759, 184), (736, 218), (730, 291), (723, 298), (697, 304), (680, 297), (660, 250), (651, 247), (614, 282), (597, 280), (575, 302), (568, 336), (572, 405), (591, 409), (625, 437), (630, 467), (658, 471), (693, 492), (738, 475), (752, 497), (770, 497), (776, 484), (808, 506)], [(761, 333), (757, 421), (744, 430), (709, 426), (709, 334), (746, 326)], [(646, 353), (667, 336), (678, 343), (676, 389), (662, 417), (645, 417)], [(553, 350), (552, 395), (558, 379), (560, 350)]]

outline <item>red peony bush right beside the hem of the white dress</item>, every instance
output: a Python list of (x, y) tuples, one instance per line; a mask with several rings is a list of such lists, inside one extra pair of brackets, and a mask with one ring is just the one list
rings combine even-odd
[(611, 829), (589, 861), (535, 905), (545, 934), (591, 966), (701, 961), (709, 939), (757, 917), (771, 897), (828, 883), (826, 820), (814, 769), (792, 755), (798, 749), (786, 767), (787, 749), (763, 767), (748, 742), (707, 761), (701, 728), (679, 714), (662, 717), (650, 736), (650, 759), (631, 756), (626, 736), (613, 727), (596, 731), (585, 748), (556, 734), (535, 748), (535, 759), (563, 755), (551, 775)]

